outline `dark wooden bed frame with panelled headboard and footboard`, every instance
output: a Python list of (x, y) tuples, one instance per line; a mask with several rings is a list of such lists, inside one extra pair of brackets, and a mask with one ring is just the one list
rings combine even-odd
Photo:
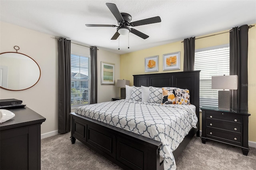
[[(194, 134), (199, 136), (199, 73), (200, 71), (185, 71), (134, 75), (136, 87), (179, 87), (190, 90), (190, 103), (195, 106), (198, 119), (197, 128), (192, 127), (178, 148), (172, 152), (175, 159), (180, 156)], [(120, 105), (123, 101), (106, 104), (112, 105), (117, 102), (120, 102), (118, 103)], [(70, 116), (72, 144), (78, 139), (124, 169), (164, 169), (164, 160), (160, 156), (163, 142), (77, 113), (70, 113)]]

